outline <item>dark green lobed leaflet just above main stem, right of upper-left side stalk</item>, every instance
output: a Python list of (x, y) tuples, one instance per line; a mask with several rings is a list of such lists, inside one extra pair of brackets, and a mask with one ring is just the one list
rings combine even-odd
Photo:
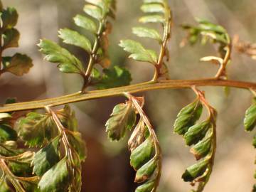
[(100, 77), (100, 73), (97, 70), (94, 70), (94, 73), (92, 73), (92, 85), (95, 85), (95, 87), (100, 90), (112, 87), (122, 87), (129, 85), (132, 81), (129, 70), (118, 66), (104, 69), (103, 73), (102, 77)]

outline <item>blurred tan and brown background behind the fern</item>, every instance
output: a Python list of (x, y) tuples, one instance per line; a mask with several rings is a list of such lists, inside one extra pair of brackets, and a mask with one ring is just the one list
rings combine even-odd
[[(54, 64), (43, 61), (38, 52), (40, 38), (59, 41), (58, 28), (73, 28), (73, 16), (82, 14), (83, 0), (2, 0), (5, 6), (15, 6), (20, 15), (18, 30), (21, 32), (19, 52), (33, 58), (34, 67), (28, 75), (16, 78), (4, 74), (0, 81), (0, 101), (6, 97), (17, 97), (18, 101), (40, 100), (57, 97), (80, 90), (82, 81), (76, 75), (60, 74)], [(139, 6), (142, 1), (120, 0), (117, 2), (117, 19), (110, 36), (112, 65), (124, 65), (131, 70), (133, 81), (150, 80), (153, 68), (147, 63), (137, 63), (127, 59), (127, 53), (119, 48), (122, 38), (138, 39), (131, 33), (132, 26), (138, 26), (137, 18), (142, 15)], [(181, 23), (195, 23), (195, 17), (206, 18), (220, 23), (231, 36), (239, 34), (244, 41), (256, 41), (256, 1), (255, 0), (171, 0), (174, 12), (173, 37), (169, 44), (171, 60), (168, 63), (172, 79), (206, 78), (215, 75), (215, 65), (198, 62), (199, 58), (215, 54), (213, 46), (193, 48), (179, 47), (186, 33)], [(159, 26), (156, 26), (159, 27)], [(82, 33), (82, 31), (81, 31)], [(158, 49), (157, 44), (139, 39), (144, 46)], [(87, 55), (80, 49), (68, 47), (84, 60)], [(16, 49), (9, 50), (9, 55)], [(256, 62), (238, 53), (233, 53), (233, 62), (228, 66), (230, 79), (256, 80)], [(252, 134), (244, 132), (242, 120), (250, 106), (252, 95), (246, 90), (231, 89), (225, 96), (221, 87), (203, 87), (211, 105), (218, 110), (218, 150), (215, 169), (206, 191), (250, 191), (255, 166), (255, 151), (252, 147)], [(190, 103), (195, 95), (191, 90), (159, 90), (144, 92), (145, 110), (156, 129), (164, 153), (163, 172), (159, 192), (183, 192), (191, 186), (184, 183), (181, 175), (195, 160), (184, 146), (183, 139), (173, 134), (173, 124), (181, 107)], [(131, 192), (134, 171), (129, 166), (127, 139), (122, 142), (109, 142), (105, 134), (105, 122), (112, 108), (124, 98), (107, 98), (73, 104), (80, 124), (80, 132), (87, 142), (88, 157), (82, 169), (82, 191), (89, 192)]]

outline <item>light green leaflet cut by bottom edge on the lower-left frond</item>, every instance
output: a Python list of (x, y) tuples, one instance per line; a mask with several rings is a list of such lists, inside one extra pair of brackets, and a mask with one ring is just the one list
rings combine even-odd
[(70, 175), (68, 173), (67, 161), (68, 159), (65, 157), (43, 175), (38, 183), (41, 192), (68, 191)]

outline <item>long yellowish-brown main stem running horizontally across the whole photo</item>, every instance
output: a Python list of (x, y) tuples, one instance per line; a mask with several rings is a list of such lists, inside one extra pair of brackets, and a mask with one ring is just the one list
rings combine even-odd
[(45, 106), (59, 106), (73, 102), (80, 102), (85, 100), (95, 100), (104, 97), (114, 97), (123, 95), (124, 92), (137, 93), (149, 90), (164, 90), (164, 89), (184, 89), (202, 86), (220, 86), (220, 87), (237, 87), (241, 89), (256, 89), (255, 82), (242, 82), (235, 80), (218, 80), (215, 78), (201, 79), (201, 80), (161, 80), (157, 83), (144, 82), (135, 85), (129, 85), (124, 87), (117, 87), (107, 90), (94, 90), (89, 92), (77, 92), (72, 95), (65, 95), (61, 97), (50, 98), (46, 100), (37, 100), (31, 102), (20, 102), (8, 105), (2, 105), (0, 107), (1, 112), (15, 112), (22, 110), (36, 110), (42, 109)]

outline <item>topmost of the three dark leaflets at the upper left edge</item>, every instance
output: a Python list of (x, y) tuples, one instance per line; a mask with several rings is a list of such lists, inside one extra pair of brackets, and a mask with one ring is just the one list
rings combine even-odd
[(13, 28), (18, 21), (18, 13), (16, 9), (8, 7), (1, 12), (1, 21), (4, 29)]

